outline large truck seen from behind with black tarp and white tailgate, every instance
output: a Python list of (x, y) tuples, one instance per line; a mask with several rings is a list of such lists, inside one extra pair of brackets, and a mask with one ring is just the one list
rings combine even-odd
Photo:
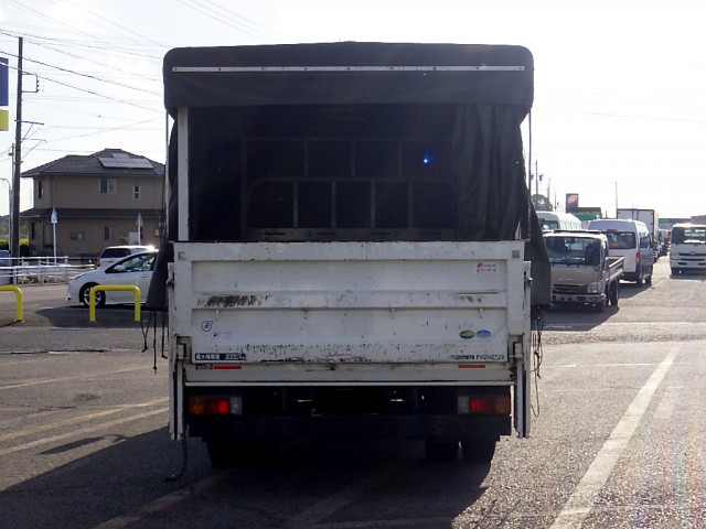
[(528, 435), (531, 313), (550, 303), (530, 52), (175, 48), (163, 75), (169, 239), (147, 306), (169, 314), (172, 439), (222, 464), (306, 436), (489, 461)]

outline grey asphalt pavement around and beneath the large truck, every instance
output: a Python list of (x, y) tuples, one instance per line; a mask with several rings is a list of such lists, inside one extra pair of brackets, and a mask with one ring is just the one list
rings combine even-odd
[(31, 320), (0, 325), (2, 529), (705, 527), (706, 277), (664, 259), (603, 313), (546, 312), (532, 434), (490, 465), (434, 464), (414, 440), (297, 440), (223, 469), (190, 439), (164, 481), (184, 454), (160, 336), (142, 352), (132, 307), (90, 323), (63, 289), (28, 288)]

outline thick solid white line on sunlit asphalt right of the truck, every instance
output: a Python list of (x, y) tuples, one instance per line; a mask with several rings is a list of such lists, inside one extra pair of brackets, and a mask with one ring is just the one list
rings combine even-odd
[(616, 425), (612, 433), (600, 449), (596, 458), (584, 474), (574, 494), (564, 505), (564, 508), (554, 520), (550, 529), (579, 529), (584, 520), (591, 511), (600, 489), (606, 485), (618, 460), (630, 442), (642, 415), (644, 414), (654, 392), (664, 380), (666, 373), (672, 367), (677, 355), (676, 348), (672, 348), (664, 360), (652, 373), (648, 381), (632, 400), (628, 410)]

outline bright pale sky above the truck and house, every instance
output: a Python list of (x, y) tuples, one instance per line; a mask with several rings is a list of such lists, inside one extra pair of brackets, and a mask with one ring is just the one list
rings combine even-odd
[[(0, 179), (10, 181), (19, 36), (23, 171), (105, 148), (163, 162), (161, 63), (171, 47), (518, 44), (535, 58), (541, 194), (559, 209), (578, 193), (580, 206), (608, 215), (706, 214), (704, 0), (0, 0), (0, 56), (11, 67)], [(526, 122), (524, 133), (528, 149)], [(0, 180), (0, 214), (7, 191)], [(21, 209), (31, 191), (23, 180)]]

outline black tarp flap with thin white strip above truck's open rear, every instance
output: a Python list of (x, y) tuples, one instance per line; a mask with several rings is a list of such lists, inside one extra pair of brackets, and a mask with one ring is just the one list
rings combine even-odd
[[(351, 67), (341, 72), (317, 67)], [(417, 71), (438, 66), (439, 71)], [(522, 69), (448, 71), (477, 66)], [(194, 72), (192, 68), (221, 68)], [(227, 72), (227, 68), (271, 68)], [(309, 68), (288, 72), (285, 68)], [(410, 71), (361, 71), (408, 67)], [(278, 71), (278, 68), (281, 68)], [(521, 46), (339, 42), (183, 47), (164, 56), (164, 106), (488, 104), (526, 110), (534, 97), (532, 54)]]

